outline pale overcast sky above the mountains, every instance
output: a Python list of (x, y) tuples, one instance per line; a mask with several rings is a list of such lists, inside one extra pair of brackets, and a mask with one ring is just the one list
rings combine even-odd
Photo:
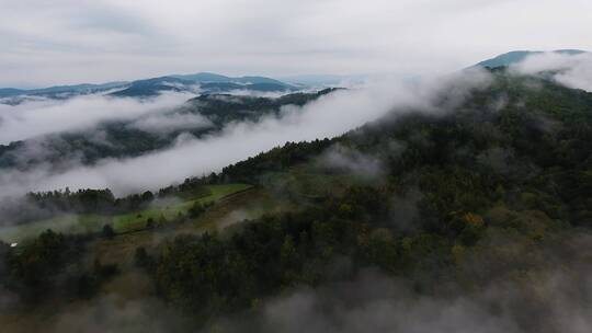
[(0, 0), (0, 87), (447, 71), (591, 33), (590, 0)]

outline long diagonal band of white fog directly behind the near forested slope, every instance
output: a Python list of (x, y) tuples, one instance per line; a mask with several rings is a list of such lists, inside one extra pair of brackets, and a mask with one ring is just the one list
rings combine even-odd
[[(3, 195), (55, 188), (109, 187), (117, 195), (156, 190), (184, 177), (219, 171), (286, 141), (334, 137), (388, 112), (409, 108), (432, 111), (442, 91), (448, 100), (462, 100), (469, 88), (485, 87), (482, 71), (413, 81), (372, 82), (363, 89), (337, 91), (303, 107), (286, 106), (280, 116), (257, 123), (230, 124), (221, 133), (194, 139), (184, 137), (171, 149), (138, 158), (103, 160), (93, 166), (72, 166), (61, 173), (48, 168), (0, 173)], [(102, 104), (101, 102), (100, 104)]]

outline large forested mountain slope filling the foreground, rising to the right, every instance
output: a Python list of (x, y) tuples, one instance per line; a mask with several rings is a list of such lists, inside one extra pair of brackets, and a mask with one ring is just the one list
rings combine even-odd
[[(430, 331), (458, 321), (452, 331), (485, 323), (487, 332), (563, 332), (566, 312), (587, 313), (591, 296), (592, 94), (503, 69), (491, 76), (460, 101), (447, 99), (458, 94), (451, 87), (433, 110), (398, 110), (333, 139), (288, 142), (157, 195), (31, 195), (107, 221), (113, 208), (236, 182), (286, 203), (266, 202), (265, 215), (230, 222), (231, 214), (202, 219), (217, 206), (156, 221), (130, 210), (144, 228), (136, 234), (149, 236), (137, 243), (109, 225), (102, 236), (47, 231), (18, 250), (0, 243), (0, 267), (10, 273), (0, 282), (37, 297), (26, 311), (45, 302), (52, 313), (71, 313), (72, 299), (117, 294), (107, 273), (136, 282), (143, 269), (156, 290), (140, 299), (163, 300), (158, 313), (184, 313), (190, 323), (181, 331), (189, 332), (367, 332), (375, 326), (360, 325), (365, 318), (398, 332), (411, 317), (415, 329), (442, 318)], [(200, 229), (206, 222), (214, 231)], [(101, 262), (117, 242), (127, 255)], [(77, 262), (82, 254), (94, 262)], [(121, 271), (104, 268), (111, 265)], [(38, 272), (60, 278), (39, 280)]]

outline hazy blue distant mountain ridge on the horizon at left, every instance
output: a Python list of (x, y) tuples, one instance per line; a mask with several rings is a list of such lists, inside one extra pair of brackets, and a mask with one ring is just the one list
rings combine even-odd
[(73, 85), (56, 85), (42, 89), (15, 89), (1, 88), (0, 97), (16, 97), (16, 96), (49, 96), (64, 97), (78, 94), (89, 94), (107, 92), (114, 96), (151, 96), (160, 91), (191, 91), (195, 87), (205, 85), (206, 92), (227, 92), (230, 90), (253, 90), (262, 92), (276, 91), (294, 91), (296, 87), (282, 82), (280, 80), (246, 76), (246, 77), (226, 77), (210, 72), (198, 72), (194, 74), (172, 74), (158, 78), (135, 80), (135, 81), (118, 81), (107, 82), (102, 84), (73, 84)]

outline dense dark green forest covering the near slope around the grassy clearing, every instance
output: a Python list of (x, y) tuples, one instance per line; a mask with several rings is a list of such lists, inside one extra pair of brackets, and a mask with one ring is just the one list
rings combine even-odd
[[(553, 315), (535, 321), (528, 313), (553, 308), (550, 291), (537, 289), (546, 272), (559, 267), (579, 285), (580, 264), (590, 265), (589, 245), (574, 242), (592, 227), (592, 94), (504, 68), (491, 74), (490, 87), (471, 90), (462, 102), (443, 92), (437, 113), (397, 112), (333, 139), (288, 142), (156, 194), (114, 198), (109, 190), (62, 191), (30, 194), (29, 200), (113, 214), (158, 196), (206, 195), (208, 184), (248, 183), (274, 196), (294, 194), (285, 211), (136, 249), (136, 265), (150, 277), (155, 295), (191, 318), (192, 328), (234, 331), (218, 322), (232, 318), (243, 324), (240, 331), (265, 331), (257, 318), (266, 300), (378, 269), (419, 298), (522, 286), (515, 298), (489, 300), (491, 311), (520, 309), (503, 315), (524, 332), (557, 332), (561, 323)], [(227, 105), (215, 104), (227, 107), (216, 113), (223, 123), (240, 114), (231, 102), (209, 96), (189, 103), (204, 99)], [(283, 99), (250, 103), (271, 111), (310, 96)], [(357, 164), (380, 161), (380, 172), (361, 177), (360, 168), (343, 163), (348, 157), (335, 166), (327, 158), (335, 151), (355, 151)], [(304, 186), (301, 173), (315, 184)], [(270, 177), (283, 187), (270, 186)], [(112, 234), (47, 231), (18, 251), (2, 244), (4, 288), (29, 301), (41, 289), (71, 294), (72, 286), (75, 297), (91, 297), (117, 274), (116, 266), (77, 263), (81, 244), (96, 237)]]

